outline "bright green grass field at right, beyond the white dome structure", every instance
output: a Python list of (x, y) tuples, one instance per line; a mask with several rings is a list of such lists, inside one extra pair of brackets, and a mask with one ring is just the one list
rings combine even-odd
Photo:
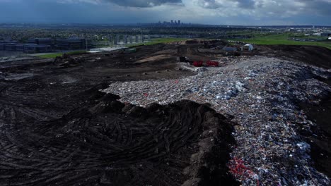
[[(320, 42), (298, 42), (294, 40), (289, 40), (291, 38), (289, 34), (279, 34), (279, 35), (257, 35), (251, 39), (238, 39), (240, 42), (247, 42), (252, 44), (286, 44), (286, 45), (313, 45), (313, 46), (324, 46), (331, 49), (331, 41), (326, 39)], [(312, 38), (312, 37), (298, 37), (298, 38)], [(315, 37), (314, 37), (315, 38)]]

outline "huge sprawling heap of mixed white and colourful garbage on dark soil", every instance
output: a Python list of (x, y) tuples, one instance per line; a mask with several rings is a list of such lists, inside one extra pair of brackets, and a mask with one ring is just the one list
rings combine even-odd
[(228, 167), (242, 185), (329, 185), (313, 168), (310, 146), (298, 134), (315, 125), (296, 101), (318, 104), (331, 92), (331, 70), (253, 56), (222, 68), (198, 68), (178, 80), (115, 82), (103, 92), (140, 106), (182, 99), (210, 104), (238, 123)]

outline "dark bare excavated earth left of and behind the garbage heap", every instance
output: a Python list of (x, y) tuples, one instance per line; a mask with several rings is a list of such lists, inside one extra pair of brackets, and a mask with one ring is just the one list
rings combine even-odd
[[(194, 75), (178, 56), (223, 56), (199, 52), (202, 46), (0, 63), (0, 185), (238, 185), (226, 166), (236, 143), (226, 117), (192, 101), (142, 108), (99, 91), (111, 82)], [(244, 55), (300, 61), (310, 49), (264, 47)]]

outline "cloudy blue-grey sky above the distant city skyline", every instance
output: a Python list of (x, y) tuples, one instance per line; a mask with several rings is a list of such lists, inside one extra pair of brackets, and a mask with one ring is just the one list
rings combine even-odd
[(331, 0), (0, 0), (0, 23), (331, 25)]

